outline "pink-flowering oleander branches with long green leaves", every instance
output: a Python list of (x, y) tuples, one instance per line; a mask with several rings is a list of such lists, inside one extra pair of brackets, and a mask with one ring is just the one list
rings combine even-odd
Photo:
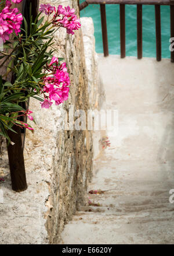
[[(63, 8), (59, 5), (56, 9), (50, 4), (41, 5), (37, 18), (28, 24), (17, 8), (11, 8), (11, 1), (1, 1), (5, 6), (0, 12), (0, 39), (3, 46), (11, 50), (10, 53), (0, 51), (0, 68), (5, 64), (7, 66), (6, 74), (0, 76), (0, 135), (7, 139), (6, 131), (13, 131), (14, 124), (32, 129), (30, 125), (19, 121), (19, 117), (24, 115), (34, 121), (30, 115), (32, 111), (24, 110), (20, 106), (21, 101), (34, 97), (41, 101), (42, 108), (49, 108), (53, 101), (59, 105), (68, 99), (70, 78), (66, 62), (53, 55), (53, 34), (60, 27), (64, 27), (68, 34), (74, 34), (74, 30), (81, 27), (75, 10), (70, 9), (70, 6)], [(41, 13), (48, 15), (44, 24)], [(24, 26), (21, 28), (22, 23)], [(13, 43), (10, 34), (14, 36)], [(48, 48), (51, 50), (48, 51)], [(6, 80), (9, 72), (14, 74), (13, 83)]]

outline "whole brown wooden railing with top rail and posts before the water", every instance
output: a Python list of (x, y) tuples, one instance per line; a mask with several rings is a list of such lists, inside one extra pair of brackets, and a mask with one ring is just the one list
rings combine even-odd
[[(173, 0), (86, 0), (79, 5), (79, 10), (84, 9), (89, 4), (100, 4), (102, 21), (102, 37), (104, 57), (109, 54), (106, 22), (106, 4), (119, 4), (120, 16), (120, 51), (121, 58), (126, 56), (125, 44), (125, 5), (137, 5), (137, 58), (143, 57), (143, 33), (142, 33), (142, 5), (155, 6), (155, 34), (156, 34), (156, 57), (161, 61), (161, 5), (169, 5), (171, 8), (171, 37), (174, 37), (174, 1)], [(174, 62), (174, 51), (171, 51), (171, 62)]]

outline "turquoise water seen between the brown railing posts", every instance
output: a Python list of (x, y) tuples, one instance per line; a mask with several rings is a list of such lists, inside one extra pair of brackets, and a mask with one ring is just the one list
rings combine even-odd
[[(80, 2), (84, 2), (81, 0)], [(126, 5), (126, 55), (137, 56), (136, 5)], [(106, 5), (108, 47), (110, 54), (120, 55), (119, 5)], [(103, 52), (100, 5), (89, 5), (81, 10), (81, 17), (92, 17), (95, 25), (96, 52)], [(170, 8), (161, 6), (162, 58), (170, 58)], [(143, 5), (143, 56), (155, 57), (155, 8)]]

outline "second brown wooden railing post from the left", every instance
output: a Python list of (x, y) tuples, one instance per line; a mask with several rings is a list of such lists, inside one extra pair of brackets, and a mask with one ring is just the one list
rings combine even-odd
[(125, 38), (125, 5), (119, 5), (119, 23), (120, 23), (120, 51), (121, 58), (126, 56), (126, 38)]

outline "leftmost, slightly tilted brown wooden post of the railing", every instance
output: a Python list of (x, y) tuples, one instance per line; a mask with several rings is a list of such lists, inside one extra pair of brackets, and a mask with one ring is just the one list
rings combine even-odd
[(107, 22), (106, 22), (106, 7), (104, 4), (100, 5), (101, 22), (102, 22), (102, 37), (103, 37), (103, 51), (104, 57), (108, 56), (108, 40), (107, 40)]

